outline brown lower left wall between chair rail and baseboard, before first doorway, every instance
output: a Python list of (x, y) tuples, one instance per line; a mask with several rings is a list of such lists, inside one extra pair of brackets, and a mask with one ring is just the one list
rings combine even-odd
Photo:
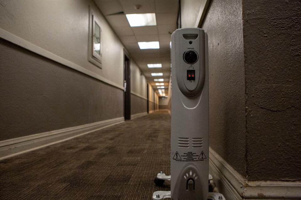
[(0, 39), (0, 141), (123, 117), (123, 90)]

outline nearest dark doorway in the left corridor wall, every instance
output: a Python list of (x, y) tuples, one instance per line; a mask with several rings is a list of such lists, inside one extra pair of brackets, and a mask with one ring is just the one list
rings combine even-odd
[(124, 50), (124, 120), (131, 119), (131, 68), (129, 53)]

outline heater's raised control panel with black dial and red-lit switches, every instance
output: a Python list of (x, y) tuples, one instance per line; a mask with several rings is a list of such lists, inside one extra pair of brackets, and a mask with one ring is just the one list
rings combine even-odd
[(177, 43), (174, 46), (177, 85), (185, 96), (196, 96), (205, 80), (205, 32), (200, 28), (181, 28), (173, 34)]

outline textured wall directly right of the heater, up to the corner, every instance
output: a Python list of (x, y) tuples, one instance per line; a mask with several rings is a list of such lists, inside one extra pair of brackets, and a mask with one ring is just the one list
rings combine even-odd
[(246, 176), (241, 0), (212, 0), (202, 28), (209, 40), (210, 147)]

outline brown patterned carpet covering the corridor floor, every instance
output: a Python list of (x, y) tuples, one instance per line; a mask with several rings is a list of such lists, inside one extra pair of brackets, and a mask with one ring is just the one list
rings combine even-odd
[(0, 161), (0, 199), (151, 199), (169, 154), (170, 115), (152, 113)]

